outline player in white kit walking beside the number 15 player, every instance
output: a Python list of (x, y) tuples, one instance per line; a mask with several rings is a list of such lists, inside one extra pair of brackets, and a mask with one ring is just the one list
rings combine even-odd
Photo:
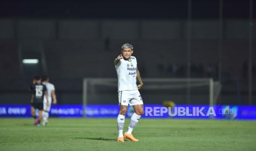
[[(42, 76), (42, 83), (46, 86), (47, 92), (48, 92), (48, 103), (46, 101), (46, 96), (43, 99), (43, 112), (42, 112), (42, 117), (43, 117), (43, 123), (42, 125), (45, 126), (48, 124), (48, 118), (49, 118), (49, 112), (51, 109), (51, 104), (56, 104), (56, 94), (55, 94), (55, 86), (50, 83), (50, 79), (46, 76)], [(53, 102), (52, 102), (53, 98)]]

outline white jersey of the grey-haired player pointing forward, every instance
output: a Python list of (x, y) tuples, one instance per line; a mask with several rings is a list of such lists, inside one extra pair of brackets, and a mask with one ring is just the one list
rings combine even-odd
[(138, 90), (136, 84), (137, 60), (130, 56), (130, 60), (121, 59), (115, 66), (118, 78), (118, 92), (126, 90)]

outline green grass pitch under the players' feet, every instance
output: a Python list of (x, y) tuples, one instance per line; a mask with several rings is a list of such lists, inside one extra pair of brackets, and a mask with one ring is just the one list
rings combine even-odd
[(256, 150), (256, 121), (141, 119), (140, 141), (125, 143), (116, 141), (116, 119), (33, 121), (0, 119), (0, 150)]

